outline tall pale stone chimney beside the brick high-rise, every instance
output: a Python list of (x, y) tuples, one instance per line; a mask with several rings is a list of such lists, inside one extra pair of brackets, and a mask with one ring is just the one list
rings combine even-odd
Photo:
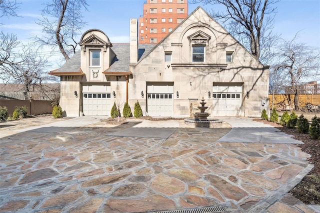
[(138, 20), (130, 18), (130, 63), (138, 61)]

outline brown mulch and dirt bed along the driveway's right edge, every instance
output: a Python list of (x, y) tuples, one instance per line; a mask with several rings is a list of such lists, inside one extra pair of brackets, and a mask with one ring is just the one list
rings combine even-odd
[[(282, 114), (279, 112), (279, 114)], [(296, 112), (299, 116), (301, 112)], [(320, 113), (303, 113), (303, 116), (311, 121), (312, 117), (320, 116)], [(311, 139), (308, 134), (299, 133), (296, 129), (283, 127), (280, 124), (270, 121), (255, 119), (256, 121), (268, 123), (275, 126), (282, 132), (293, 135), (294, 139), (302, 141), (304, 144), (297, 144), (301, 149), (310, 154), (309, 161), (314, 164), (312, 170), (297, 184), (290, 194), (300, 199), (306, 204), (320, 204), (320, 140)]]

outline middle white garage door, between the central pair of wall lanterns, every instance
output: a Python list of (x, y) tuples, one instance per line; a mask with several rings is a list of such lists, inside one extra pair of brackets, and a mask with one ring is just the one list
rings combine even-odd
[(173, 85), (147, 85), (147, 114), (161, 117), (173, 115)]

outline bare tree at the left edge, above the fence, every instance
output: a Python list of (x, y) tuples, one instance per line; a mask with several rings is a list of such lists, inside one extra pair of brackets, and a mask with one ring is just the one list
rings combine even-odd
[(47, 74), (47, 59), (33, 45), (22, 45), (13, 34), (0, 33), (0, 79), (5, 83), (22, 83), (24, 91), (31, 85), (52, 81)]

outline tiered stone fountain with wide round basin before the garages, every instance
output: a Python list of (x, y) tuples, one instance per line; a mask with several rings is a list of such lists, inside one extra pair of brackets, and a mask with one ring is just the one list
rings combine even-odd
[(213, 128), (216, 125), (219, 125), (222, 123), (222, 120), (219, 119), (207, 119), (207, 117), (210, 115), (210, 113), (205, 112), (205, 109), (207, 109), (207, 106), (204, 106), (206, 102), (204, 102), (204, 99), (202, 97), (201, 99), (201, 106), (198, 106), (198, 109), (200, 109), (200, 112), (195, 112), (195, 118), (185, 118), (184, 123), (188, 125), (194, 125), (195, 127), (207, 127), (207, 128)]

